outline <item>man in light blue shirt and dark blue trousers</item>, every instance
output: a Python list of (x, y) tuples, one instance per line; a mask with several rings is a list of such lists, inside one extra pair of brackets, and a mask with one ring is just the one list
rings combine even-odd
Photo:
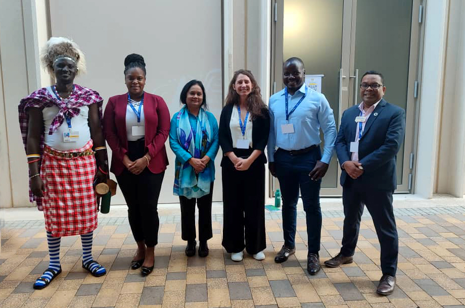
[[(290, 58), (283, 65), (286, 88), (269, 99), (270, 134), (268, 166), (280, 181), (283, 196), (284, 245), (276, 254), (276, 263), (285, 262), (295, 252), (297, 201), (299, 188), (307, 218), (307, 271), (319, 269), (321, 178), (328, 171), (336, 140), (333, 110), (323, 94), (309, 89), (301, 59)], [(320, 128), (324, 148), (320, 150)]]

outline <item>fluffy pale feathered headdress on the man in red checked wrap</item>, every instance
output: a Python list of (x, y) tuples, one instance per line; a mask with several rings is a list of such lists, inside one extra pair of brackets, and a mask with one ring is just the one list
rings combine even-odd
[(79, 46), (66, 37), (51, 37), (40, 55), (42, 66), (50, 75), (55, 76), (53, 66), (60, 59), (69, 59), (76, 63), (76, 76), (85, 73), (85, 58)]

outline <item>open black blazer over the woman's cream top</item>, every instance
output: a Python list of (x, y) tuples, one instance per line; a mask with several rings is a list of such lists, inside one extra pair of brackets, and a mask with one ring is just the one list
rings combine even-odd
[(229, 122), (231, 121), (232, 115), (232, 108), (234, 108), (234, 104), (227, 104), (224, 106), (223, 110), (221, 111), (221, 116), (219, 118), (219, 128), (218, 128), (218, 137), (219, 137), (219, 145), (221, 146), (221, 150), (223, 151), (223, 158), (221, 159), (221, 166), (223, 166), (224, 162), (229, 162), (230, 160), (227, 156), (224, 156), (224, 153), (234, 151), (235, 153), (243, 151), (247, 151), (248, 154), (252, 153), (253, 150), (261, 150), (261, 155), (255, 160), (254, 163), (261, 163), (266, 164), (266, 156), (265, 156), (265, 147), (268, 143), (268, 135), (269, 135), (269, 114), (267, 110), (263, 110), (262, 117), (256, 117), (252, 119), (252, 148), (247, 149), (237, 149), (232, 147), (232, 136), (231, 130), (229, 129)]

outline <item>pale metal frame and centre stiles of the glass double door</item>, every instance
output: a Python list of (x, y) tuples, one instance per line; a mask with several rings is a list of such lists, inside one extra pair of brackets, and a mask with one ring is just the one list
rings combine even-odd
[[(283, 57), (283, 40), (284, 40), (284, 0), (271, 1), (271, 77), (270, 77), (270, 95), (283, 88), (282, 74), (284, 61)], [(412, 0), (412, 18), (410, 27), (410, 52), (408, 68), (408, 86), (407, 86), (407, 107), (406, 107), (406, 131), (404, 137), (404, 152), (402, 166), (402, 182), (397, 185), (395, 193), (411, 193), (413, 186), (414, 172), (414, 124), (416, 115), (415, 102), (415, 81), (417, 81), (416, 91), (418, 91), (418, 74), (420, 74), (421, 48), (422, 40), (422, 23), (417, 18), (420, 14), (422, 0)], [(423, 2), (423, 11), (425, 11)], [(358, 79), (363, 72), (356, 71), (355, 68), (355, 35), (356, 35), (356, 12), (357, 0), (343, 0), (343, 22), (342, 22), (342, 55), (341, 71), (339, 74), (339, 117), (335, 119), (341, 122), (343, 111), (356, 104), (358, 100)], [(357, 96), (354, 96), (356, 94)], [(355, 97), (357, 99), (355, 99)], [(354, 100), (355, 99), (355, 100)], [(339, 125), (338, 125), (339, 127)], [(333, 159), (337, 159), (333, 156)], [(321, 188), (320, 196), (341, 196), (342, 187), (339, 182), (341, 168), (338, 168), (337, 186), (333, 188)], [(279, 183), (275, 177), (268, 172), (269, 185), (268, 195), (273, 197)]]

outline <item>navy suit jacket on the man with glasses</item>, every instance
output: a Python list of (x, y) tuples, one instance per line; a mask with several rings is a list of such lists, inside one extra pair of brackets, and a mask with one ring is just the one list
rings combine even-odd
[[(341, 119), (336, 138), (339, 164), (351, 160), (350, 142), (355, 140), (355, 118), (360, 115), (358, 106), (347, 109)], [(396, 189), (396, 155), (405, 135), (405, 111), (381, 99), (368, 118), (358, 142), (358, 160), (363, 174), (355, 181), (363, 187), (383, 190)], [(343, 169), (341, 185), (349, 178)]]

